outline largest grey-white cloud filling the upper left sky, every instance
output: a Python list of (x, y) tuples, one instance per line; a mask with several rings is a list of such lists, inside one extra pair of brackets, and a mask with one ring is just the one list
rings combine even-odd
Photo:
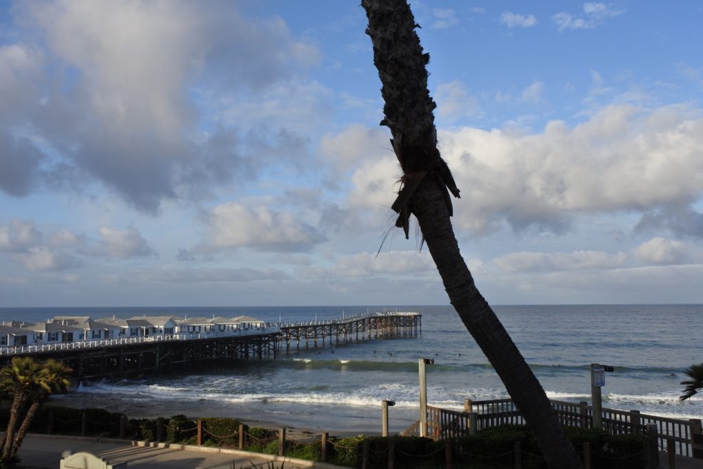
[(320, 60), (280, 18), (244, 18), (235, 4), (19, 2), (14, 13), (24, 29), (0, 49), (0, 107), (14, 100), (0, 113), (0, 190), (13, 195), (32, 190), (42, 156), (53, 184), (98, 181), (145, 212), (250, 176), (239, 129), (201, 133), (198, 96), (261, 93)]

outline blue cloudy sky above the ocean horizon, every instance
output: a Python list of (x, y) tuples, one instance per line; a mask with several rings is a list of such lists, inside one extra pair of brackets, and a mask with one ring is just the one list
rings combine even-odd
[[(703, 5), (411, 2), (491, 304), (703, 302)], [(448, 304), (359, 1), (0, 0), (0, 307)]]

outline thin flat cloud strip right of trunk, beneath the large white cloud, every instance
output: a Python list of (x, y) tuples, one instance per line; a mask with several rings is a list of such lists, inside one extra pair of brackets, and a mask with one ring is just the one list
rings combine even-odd
[(624, 264), (626, 255), (610, 255), (602, 251), (574, 252), (513, 252), (494, 259), (494, 263), (508, 272), (567, 271), (610, 269)]

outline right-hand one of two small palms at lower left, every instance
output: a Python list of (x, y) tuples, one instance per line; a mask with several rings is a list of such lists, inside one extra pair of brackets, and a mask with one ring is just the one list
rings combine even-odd
[(27, 430), (29, 430), (37, 410), (41, 407), (41, 404), (46, 402), (46, 399), (49, 399), (49, 394), (69, 390), (71, 387), (70, 376), (72, 372), (73, 370), (65, 366), (61, 361), (49, 359), (44, 362), (44, 366), (39, 372), (37, 386), (34, 387), (34, 390), (32, 390), (30, 394), (30, 407), (27, 409), (27, 413), (25, 413), (20, 428), (18, 428), (15, 433), (12, 449), (9, 454), (10, 458), (14, 458), (17, 455), (22, 445), (22, 440), (25, 439)]

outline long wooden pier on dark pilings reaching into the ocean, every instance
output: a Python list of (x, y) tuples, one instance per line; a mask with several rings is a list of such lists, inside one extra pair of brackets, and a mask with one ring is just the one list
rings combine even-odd
[(0, 348), (0, 366), (13, 356), (63, 361), (75, 380), (106, 376), (146, 375), (181, 366), (236, 360), (276, 358), (278, 351), (295, 347), (325, 347), (340, 342), (417, 336), (419, 313), (378, 313), (333, 321), (269, 324), (240, 333), (159, 335), (142, 338), (89, 340), (67, 344)]

